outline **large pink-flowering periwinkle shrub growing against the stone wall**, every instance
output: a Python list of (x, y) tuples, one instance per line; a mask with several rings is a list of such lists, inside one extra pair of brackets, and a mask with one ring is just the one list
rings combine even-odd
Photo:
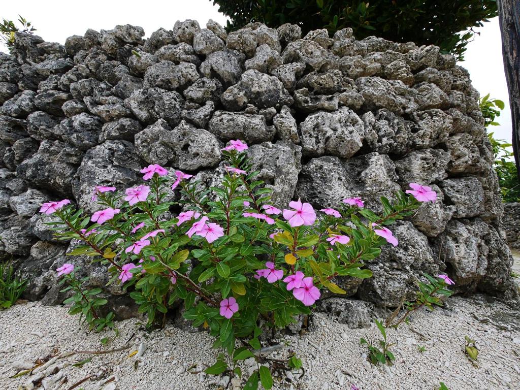
[[(124, 194), (97, 186), (93, 201), (101, 210), (92, 216), (68, 200), (45, 203), (41, 211), (60, 218), (58, 237), (83, 241), (71, 255), (109, 265), (110, 283), (131, 291), (149, 325), (183, 301), (184, 317), (208, 328), (214, 347), (245, 359), (252, 354), (235, 350), (237, 338), (259, 349), (260, 323), (283, 328), (310, 314), (320, 290), (345, 293), (335, 277), (370, 278), (364, 262), (379, 256), (383, 244), (398, 244), (386, 226), (436, 198), (430, 187), (412, 184), (393, 203), (381, 198), (381, 215), (359, 198), (319, 212), (298, 199), (280, 210), (255, 178), (247, 148), (234, 140), (222, 150), (226, 172), (218, 187), (201, 189), (192, 175), (176, 171), (172, 178), (152, 164), (141, 170), (146, 183)], [(172, 190), (180, 191), (180, 201), (167, 200)], [(67, 273), (69, 265), (63, 267)], [(217, 362), (211, 373), (226, 369)], [(258, 376), (264, 383), (265, 372)]]

